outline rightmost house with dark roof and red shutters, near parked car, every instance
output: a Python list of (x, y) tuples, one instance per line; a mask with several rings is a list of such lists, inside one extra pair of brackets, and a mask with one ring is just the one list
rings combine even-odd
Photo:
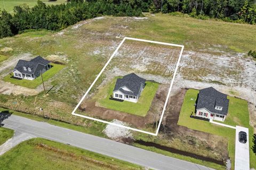
[(228, 104), (227, 95), (212, 87), (199, 90), (196, 116), (223, 122), (228, 114)]

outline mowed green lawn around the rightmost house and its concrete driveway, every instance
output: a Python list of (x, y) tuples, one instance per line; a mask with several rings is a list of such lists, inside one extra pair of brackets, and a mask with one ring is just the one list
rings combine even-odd
[[(195, 100), (197, 98), (198, 90), (189, 89), (186, 93), (185, 99), (182, 104), (178, 124), (186, 126), (190, 129), (203, 131), (207, 133), (217, 134), (228, 139), (228, 152), (231, 159), (232, 168), (235, 166), (235, 130), (223, 126), (214, 125), (210, 122), (190, 118), (191, 112), (195, 112)], [(193, 100), (192, 100), (193, 99)], [(226, 117), (225, 124), (239, 125), (249, 128), (249, 142), (250, 148), (253, 146), (253, 128), (249, 124), (249, 110), (246, 100), (229, 97), (228, 116)], [(250, 167), (256, 167), (256, 155), (250, 149)]]

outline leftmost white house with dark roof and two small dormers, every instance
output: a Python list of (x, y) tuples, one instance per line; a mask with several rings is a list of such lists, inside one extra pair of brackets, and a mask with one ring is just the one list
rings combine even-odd
[(50, 61), (44, 60), (41, 56), (37, 56), (33, 60), (25, 61), (19, 60), (15, 66), (13, 72), (14, 78), (34, 80), (41, 73), (43, 74), (49, 70), (52, 66)]

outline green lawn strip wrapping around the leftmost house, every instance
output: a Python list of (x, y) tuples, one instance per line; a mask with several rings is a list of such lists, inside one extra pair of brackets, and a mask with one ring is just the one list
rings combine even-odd
[[(58, 73), (61, 69), (63, 69), (63, 67), (65, 67), (65, 65), (61, 65), (61, 64), (51, 63), (51, 65), (53, 67), (50, 70), (47, 70), (46, 72), (43, 73), (44, 81), (47, 81), (48, 79), (53, 77), (54, 74)], [(11, 82), (18, 86), (27, 87), (30, 89), (35, 89), (37, 86), (42, 84), (41, 76), (37, 77), (35, 80), (25, 80), (25, 79), (18, 80), (18, 79), (11, 78), (11, 75), (8, 74), (4, 77), (4, 81)]]

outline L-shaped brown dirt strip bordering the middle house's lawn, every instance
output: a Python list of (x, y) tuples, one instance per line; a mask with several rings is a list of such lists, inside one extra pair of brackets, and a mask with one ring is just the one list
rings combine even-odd
[(163, 111), (164, 102), (167, 96), (166, 91), (168, 87), (169, 86), (167, 84), (159, 85), (156, 95), (152, 101), (152, 105), (150, 106), (149, 111), (145, 117), (99, 107), (95, 105), (95, 101), (89, 100), (86, 100), (81, 104), (79, 111), (83, 114), (89, 114), (93, 117), (97, 116), (106, 120), (117, 119), (119, 121), (132, 124), (136, 128), (145, 128), (147, 125), (154, 124), (156, 120), (159, 120), (159, 117)]

